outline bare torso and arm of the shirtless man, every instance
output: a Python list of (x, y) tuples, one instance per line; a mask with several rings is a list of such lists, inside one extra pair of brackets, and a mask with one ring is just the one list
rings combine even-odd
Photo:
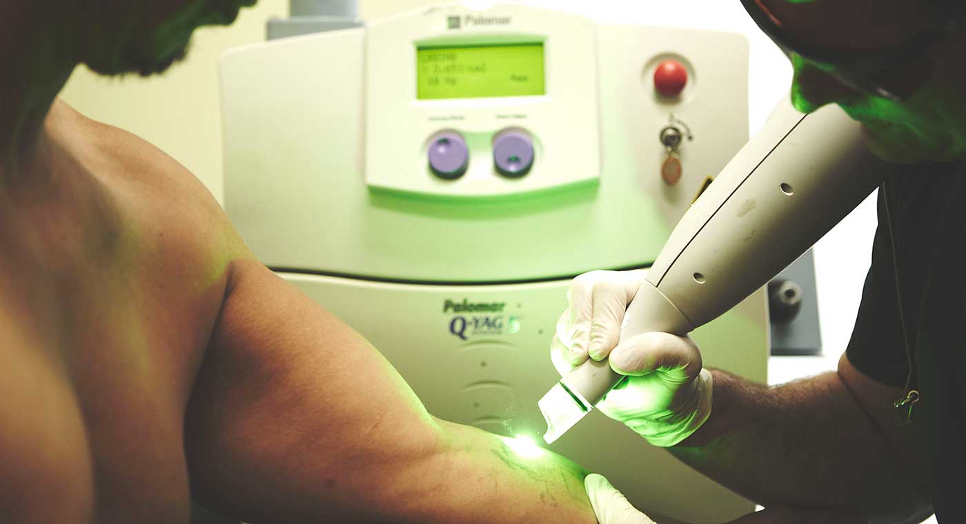
[(581, 468), (432, 417), (184, 167), (53, 100), (55, 50), (0, 85), (0, 521), (596, 521)]

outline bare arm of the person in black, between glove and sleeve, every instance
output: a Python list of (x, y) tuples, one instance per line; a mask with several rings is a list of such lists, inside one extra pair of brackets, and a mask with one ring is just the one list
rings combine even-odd
[(829, 521), (810, 513), (866, 522), (929, 508), (923, 428), (897, 423), (892, 402), (902, 396), (899, 388), (868, 378), (844, 355), (838, 372), (771, 388), (713, 375), (711, 418), (668, 448), (708, 477), (766, 507), (810, 518), (804, 522)]

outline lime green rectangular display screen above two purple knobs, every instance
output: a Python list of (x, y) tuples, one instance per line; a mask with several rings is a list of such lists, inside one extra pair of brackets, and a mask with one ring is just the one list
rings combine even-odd
[(543, 43), (416, 48), (416, 98), (544, 93)]

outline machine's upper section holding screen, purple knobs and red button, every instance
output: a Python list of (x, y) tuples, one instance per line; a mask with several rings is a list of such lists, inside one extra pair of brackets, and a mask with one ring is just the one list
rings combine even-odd
[(497, 3), (221, 59), (225, 207), (273, 267), (518, 282), (646, 266), (748, 139), (748, 42)]

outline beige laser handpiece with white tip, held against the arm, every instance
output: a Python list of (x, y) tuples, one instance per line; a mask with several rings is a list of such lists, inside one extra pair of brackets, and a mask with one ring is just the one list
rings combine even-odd
[[(790, 97), (678, 222), (628, 307), (620, 340), (686, 335), (721, 316), (793, 262), (892, 168), (867, 151), (838, 106), (803, 115)], [(587, 360), (537, 405), (552, 443), (624, 378)]]

